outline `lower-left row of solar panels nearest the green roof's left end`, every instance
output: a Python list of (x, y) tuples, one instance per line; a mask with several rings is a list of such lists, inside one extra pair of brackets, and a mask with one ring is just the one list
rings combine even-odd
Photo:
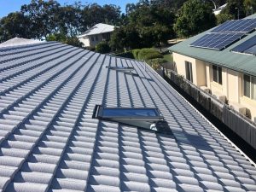
[(190, 44), (190, 46), (220, 50), (233, 44), (243, 35), (243, 33), (208, 33)]

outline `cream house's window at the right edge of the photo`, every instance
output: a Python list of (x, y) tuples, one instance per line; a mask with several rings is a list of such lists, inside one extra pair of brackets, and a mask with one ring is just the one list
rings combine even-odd
[(256, 100), (256, 78), (243, 75), (243, 95)]

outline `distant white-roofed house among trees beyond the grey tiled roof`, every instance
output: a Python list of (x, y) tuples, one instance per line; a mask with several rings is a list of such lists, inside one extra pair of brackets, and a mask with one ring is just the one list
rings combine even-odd
[(85, 48), (93, 49), (96, 44), (108, 41), (115, 26), (99, 23), (78, 36)]

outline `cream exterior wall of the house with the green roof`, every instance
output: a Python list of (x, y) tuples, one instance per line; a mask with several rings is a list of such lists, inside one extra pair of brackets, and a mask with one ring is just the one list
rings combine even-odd
[(248, 108), (252, 120), (256, 117), (256, 101), (243, 96), (242, 73), (222, 67), (222, 84), (213, 81), (212, 64), (205, 61), (173, 53), (173, 61), (177, 66), (177, 73), (186, 77), (185, 61), (192, 63), (193, 83), (199, 87), (206, 86), (215, 96), (226, 96), (230, 105), (236, 108)]

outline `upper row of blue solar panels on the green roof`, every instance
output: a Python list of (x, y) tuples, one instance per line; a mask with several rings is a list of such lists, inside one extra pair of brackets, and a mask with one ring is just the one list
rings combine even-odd
[(256, 29), (256, 19), (228, 20), (211, 32), (252, 32)]

